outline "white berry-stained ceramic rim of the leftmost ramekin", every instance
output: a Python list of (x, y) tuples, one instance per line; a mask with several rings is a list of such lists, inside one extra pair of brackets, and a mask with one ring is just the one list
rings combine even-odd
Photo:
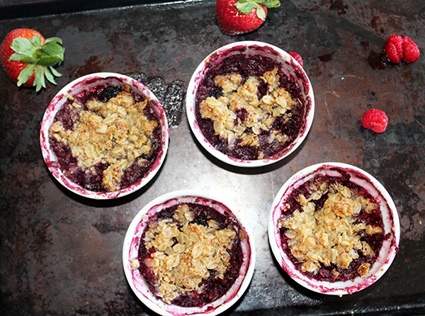
[[(73, 94), (74, 89), (81, 89), (81, 91), (84, 90), (84, 87), (80, 86), (81, 83), (86, 81), (86, 79), (100, 79), (100, 80), (108, 80), (113, 81), (115, 84), (129, 84), (132, 89), (137, 91), (138, 93), (146, 96), (149, 100), (152, 101), (152, 104), (155, 106), (159, 120), (162, 124), (162, 149), (159, 152), (159, 156), (157, 157), (157, 160), (154, 162), (154, 165), (152, 166), (152, 169), (149, 171), (149, 173), (140, 181), (138, 181), (136, 184), (133, 184), (132, 186), (129, 186), (128, 188), (123, 188), (119, 191), (114, 192), (94, 192), (86, 190), (85, 188), (82, 188), (81, 186), (75, 184), (74, 182), (67, 179), (66, 176), (62, 173), (60, 167), (57, 167), (57, 165), (54, 164), (54, 162), (57, 162), (57, 157), (55, 153), (50, 148), (49, 143), (49, 129), (50, 126), (53, 123), (53, 120), (55, 118), (55, 115), (60, 109), (62, 108), (64, 102), (67, 100), (67, 95)], [(98, 81), (96, 81), (99, 83)], [(93, 83), (93, 86), (96, 86), (96, 82)], [(157, 174), (159, 169), (161, 168), (164, 159), (166, 157), (166, 152), (169, 147), (169, 128), (168, 123), (166, 120), (166, 115), (164, 113), (164, 109), (162, 108), (161, 104), (157, 100), (157, 98), (152, 94), (149, 89), (145, 85), (143, 85), (141, 82), (132, 79), (128, 76), (125, 76), (123, 74), (116, 74), (113, 72), (98, 72), (94, 74), (87, 74), (83, 77), (79, 77), (75, 79), (74, 81), (71, 81), (69, 84), (64, 86), (60, 91), (56, 94), (56, 96), (52, 99), (49, 106), (47, 106), (47, 110), (45, 111), (45, 114), (42, 118), (41, 128), (40, 128), (40, 146), (41, 146), (41, 152), (42, 157), (45, 160), (45, 163), (47, 164), (47, 168), (50, 170), (52, 175), (57, 179), (57, 181), (60, 182), (65, 188), (69, 189), (70, 191), (79, 194), (80, 196), (85, 196), (86, 198), (94, 198), (94, 199), (110, 199), (110, 198), (118, 198), (120, 196), (126, 196), (134, 191), (137, 191), (138, 189), (142, 188), (142, 186), (145, 186), (152, 178)]]

